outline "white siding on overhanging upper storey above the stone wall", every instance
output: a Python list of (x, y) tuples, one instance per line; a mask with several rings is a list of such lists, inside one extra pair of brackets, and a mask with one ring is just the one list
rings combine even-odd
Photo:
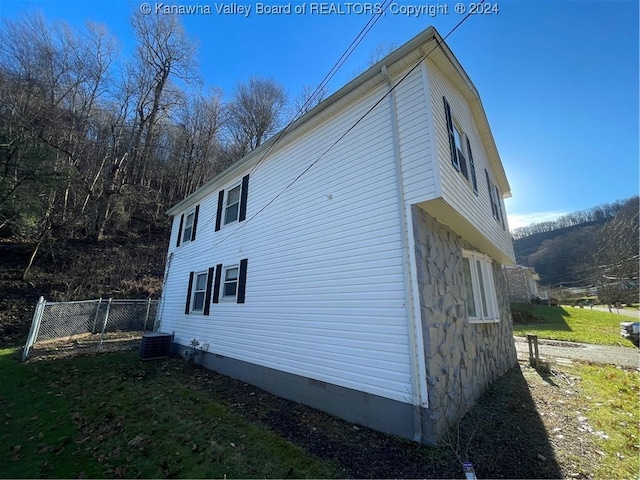
[[(435, 151), (437, 151), (437, 158), (440, 163), (442, 197), (486, 238), (498, 246), (500, 250), (513, 257), (513, 246), (509, 236), (506, 218), (506, 228), (503, 229), (502, 225), (493, 218), (491, 213), (489, 191), (484, 173), (485, 168), (489, 171), (493, 183), (495, 183), (495, 175), (489, 164), (487, 151), (480, 139), (476, 123), (472, 118), (469, 104), (430, 60), (427, 60), (427, 71), (429, 75), (431, 108), (437, 144)], [(451, 164), (451, 150), (449, 147), (446, 117), (442, 101), (443, 96), (447, 97), (449, 105), (451, 106), (452, 115), (464, 130), (464, 133), (469, 137), (476, 167), (478, 195), (473, 192), (471, 182), (467, 181)], [(471, 178), (471, 175), (469, 175), (469, 178)], [(498, 201), (502, 207), (502, 213), (506, 214), (502, 192), (500, 192), (500, 195)]]

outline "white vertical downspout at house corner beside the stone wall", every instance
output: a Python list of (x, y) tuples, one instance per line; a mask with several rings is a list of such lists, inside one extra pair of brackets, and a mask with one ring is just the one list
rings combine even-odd
[[(382, 74), (387, 80), (389, 87), (389, 107), (391, 109), (391, 136), (393, 142), (393, 157), (395, 160), (396, 190), (398, 198), (398, 214), (400, 217), (400, 236), (402, 242), (402, 266), (404, 271), (405, 307), (407, 310), (407, 327), (409, 337), (409, 355), (411, 369), (411, 403), (413, 405), (413, 439), (422, 442), (422, 409), (427, 407), (427, 389), (425, 383), (424, 350), (422, 348), (422, 323), (416, 319), (416, 306), (414, 301), (414, 264), (411, 252), (412, 242), (410, 241), (409, 228), (413, 228), (413, 223), (409, 220), (411, 206), (405, 207), (404, 202), (404, 182), (402, 180), (402, 163), (400, 160), (400, 136), (398, 134), (398, 112), (396, 109), (396, 95), (393, 82), (386, 65), (382, 66)], [(411, 232), (411, 239), (413, 232)], [(419, 308), (419, 304), (418, 304)], [(419, 310), (417, 310), (419, 312)]]

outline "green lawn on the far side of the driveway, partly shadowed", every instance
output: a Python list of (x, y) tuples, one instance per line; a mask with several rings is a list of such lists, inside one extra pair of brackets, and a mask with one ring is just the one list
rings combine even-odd
[(631, 317), (589, 308), (546, 305), (513, 304), (512, 311), (522, 312), (526, 318), (533, 317), (530, 323), (524, 325), (514, 323), (514, 335), (535, 334), (553, 340), (635, 348), (633, 342), (620, 336), (620, 322), (633, 321)]

